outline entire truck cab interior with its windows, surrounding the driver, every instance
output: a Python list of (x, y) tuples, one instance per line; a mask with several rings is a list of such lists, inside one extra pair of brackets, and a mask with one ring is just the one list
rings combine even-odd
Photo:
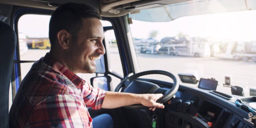
[(116, 128), (256, 126), (255, 0), (0, 0), (1, 127), (22, 79), (49, 52), (51, 13), (67, 2), (102, 16), (106, 54), (80, 77), (108, 91), (164, 95), (164, 109), (88, 108), (92, 117), (107, 113)]

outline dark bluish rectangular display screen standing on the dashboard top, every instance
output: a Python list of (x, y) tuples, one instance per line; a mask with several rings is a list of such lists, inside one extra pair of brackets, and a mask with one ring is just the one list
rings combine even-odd
[(216, 90), (217, 85), (218, 85), (218, 81), (216, 80), (201, 78), (199, 81), (198, 88), (205, 89), (205, 90)]

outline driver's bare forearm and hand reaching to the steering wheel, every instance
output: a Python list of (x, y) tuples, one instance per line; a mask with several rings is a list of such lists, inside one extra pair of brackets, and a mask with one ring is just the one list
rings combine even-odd
[(142, 104), (147, 107), (164, 108), (163, 104), (156, 103), (156, 100), (163, 94), (133, 94), (124, 92), (107, 91), (103, 100), (102, 108), (118, 108), (132, 104)]

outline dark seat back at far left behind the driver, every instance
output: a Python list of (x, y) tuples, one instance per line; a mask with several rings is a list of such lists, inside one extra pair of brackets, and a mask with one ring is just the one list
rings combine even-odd
[(0, 21), (0, 124), (9, 127), (9, 88), (13, 58), (16, 47), (16, 34), (12, 27)]

